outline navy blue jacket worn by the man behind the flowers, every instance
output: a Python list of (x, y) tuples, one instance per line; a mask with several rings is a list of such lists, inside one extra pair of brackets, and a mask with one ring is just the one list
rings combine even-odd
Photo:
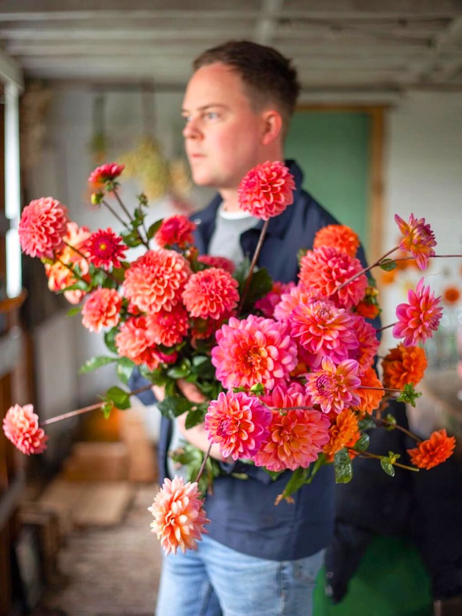
[[(294, 203), (280, 216), (270, 219), (258, 265), (266, 267), (273, 280), (296, 281), (300, 248), (312, 248), (318, 229), (337, 221), (307, 192), (302, 190), (302, 172), (293, 161), (288, 161), (296, 181)], [(221, 197), (217, 195), (210, 205), (193, 216), (198, 225), (195, 242), (200, 253), (206, 253), (213, 234), (217, 208)], [(242, 233), (240, 242), (245, 255), (251, 257), (256, 248), (262, 221), (253, 229)], [(364, 261), (364, 255), (359, 255)], [(131, 381), (131, 389), (146, 383), (139, 375)], [(144, 392), (145, 403), (153, 403), (151, 392)], [(147, 394), (147, 395), (146, 395)], [(143, 394), (142, 394), (143, 395)], [(140, 398), (142, 397), (140, 395)], [(167, 476), (166, 455), (171, 438), (171, 421), (161, 420), (159, 442), (160, 475)], [(318, 471), (312, 484), (304, 486), (295, 495), (295, 504), (274, 501), (283, 491), (290, 472), (276, 481), (261, 468), (239, 461), (222, 465), (227, 472), (245, 472), (249, 479), (235, 479), (230, 474), (214, 481), (214, 493), (206, 498), (209, 535), (215, 540), (251, 556), (275, 561), (310, 556), (330, 543), (334, 521), (334, 474), (332, 465)]]

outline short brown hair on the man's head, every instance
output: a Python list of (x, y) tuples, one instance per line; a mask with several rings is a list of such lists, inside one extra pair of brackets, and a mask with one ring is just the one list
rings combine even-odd
[(269, 101), (275, 103), (287, 130), (300, 92), (291, 60), (273, 47), (251, 41), (228, 41), (198, 55), (193, 70), (214, 62), (222, 62), (240, 75), (254, 107), (261, 108)]

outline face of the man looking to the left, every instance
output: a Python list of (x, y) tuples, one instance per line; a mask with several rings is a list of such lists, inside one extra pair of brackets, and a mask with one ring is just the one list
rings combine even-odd
[(264, 120), (251, 108), (240, 76), (216, 62), (199, 68), (183, 100), (183, 136), (193, 180), (202, 186), (237, 188), (262, 162)]

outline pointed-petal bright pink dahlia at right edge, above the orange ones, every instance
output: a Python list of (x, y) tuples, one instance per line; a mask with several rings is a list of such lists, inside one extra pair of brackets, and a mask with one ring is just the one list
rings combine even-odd
[(441, 298), (435, 298), (429, 286), (424, 286), (421, 278), (415, 291), (407, 294), (408, 304), (399, 304), (396, 308), (398, 322), (393, 328), (395, 338), (404, 338), (404, 346), (416, 346), (425, 342), (438, 329), (443, 309), (439, 304)]

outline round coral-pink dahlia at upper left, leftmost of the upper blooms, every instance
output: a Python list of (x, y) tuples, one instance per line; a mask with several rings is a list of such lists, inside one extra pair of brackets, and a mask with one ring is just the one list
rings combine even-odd
[(53, 197), (34, 199), (26, 205), (18, 225), (23, 253), (52, 259), (64, 246), (67, 233), (67, 208)]

